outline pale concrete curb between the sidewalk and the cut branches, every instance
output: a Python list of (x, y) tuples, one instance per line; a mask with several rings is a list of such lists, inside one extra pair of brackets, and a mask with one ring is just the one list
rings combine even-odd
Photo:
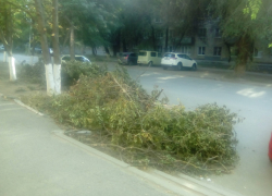
[(51, 133), (54, 136), (75, 145), (76, 147), (83, 149), (86, 152), (96, 155), (135, 175), (138, 175), (144, 180), (147, 180), (164, 189), (168, 189), (168, 193), (177, 194), (182, 196), (243, 196), (242, 194), (235, 193), (224, 187), (209, 185), (203, 182), (197, 181), (196, 179), (193, 179), (185, 174), (178, 174), (178, 177), (176, 177), (154, 169), (141, 171), (90, 146), (87, 146), (72, 137), (64, 135), (64, 131), (59, 130), (53, 131)]

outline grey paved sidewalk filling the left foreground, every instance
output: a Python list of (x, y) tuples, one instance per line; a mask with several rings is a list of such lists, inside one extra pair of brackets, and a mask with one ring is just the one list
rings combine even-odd
[(1, 196), (168, 195), (51, 132), (49, 119), (0, 96)]

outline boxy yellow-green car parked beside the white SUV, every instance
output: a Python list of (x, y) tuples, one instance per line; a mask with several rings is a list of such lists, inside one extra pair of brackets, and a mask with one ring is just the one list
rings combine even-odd
[(161, 53), (156, 51), (140, 50), (138, 53), (138, 64), (147, 64), (152, 66), (153, 64), (159, 65), (161, 63)]

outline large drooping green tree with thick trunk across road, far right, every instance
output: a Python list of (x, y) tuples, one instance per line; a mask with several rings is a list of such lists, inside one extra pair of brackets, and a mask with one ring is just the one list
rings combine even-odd
[(228, 45), (237, 47), (237, 73), (243, 73), (247, 61), (252, 60), (256, 41), (271, 41), (271, 8), (270, 0), (211, 1), (210, 11), (219, 20), (223, 38)]

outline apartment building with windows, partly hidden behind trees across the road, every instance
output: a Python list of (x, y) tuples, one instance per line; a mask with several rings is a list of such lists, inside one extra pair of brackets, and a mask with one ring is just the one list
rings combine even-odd
[[(177, 35), (173, 32), (174, 29), (171, 28), (168, 32), (168, 48), (165, 48), (166, 34), (165, 30), (164, 34), (160, 30), (157, 37), (158, 51), (182, 52), (196, 60), (228, 61), (230, 57), (232, 61), (236, 59), (236, 48), (224, 42), (215, 21), (205, 22), (194, 36), (184, 36), (180, 46), (176, 48), (174, 47), (174, 42), (176, 41), (175, 37)], [(252, 60), (256, 63), (272, 64), (272, 48), (268, 48), (268, 42), (264, 40), (255, 42)]]

